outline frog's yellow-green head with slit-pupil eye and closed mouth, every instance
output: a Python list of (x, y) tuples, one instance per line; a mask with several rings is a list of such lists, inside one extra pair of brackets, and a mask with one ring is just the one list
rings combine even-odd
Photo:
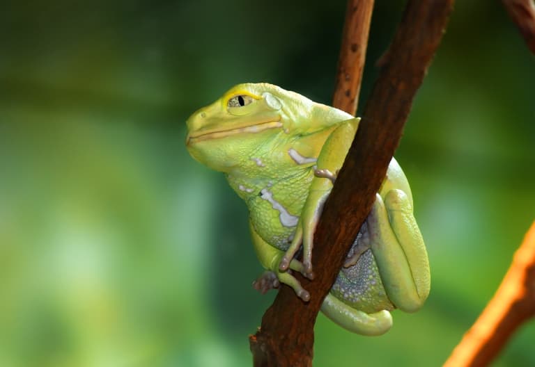
[(267, 151), (348, 117), (277, 85), (238, 84), (189, 117), (186, 145), (197, 161), (228, 172), (262, 147)]

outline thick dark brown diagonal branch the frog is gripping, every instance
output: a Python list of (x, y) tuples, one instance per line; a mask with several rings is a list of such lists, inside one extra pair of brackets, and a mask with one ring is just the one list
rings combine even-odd
[(304, 303), (292, 289), (281, 287), (263, 316), (261, 329), (250, 338), (254, 366), (311, 366), (313, 325), (320, 305), (371, 210), (452, 5), (453, 0), (408, 2), (388, 52), (391, 58), (375, 82), (316, 229), (316, 279), (309, 282), (297, 275), (311, 300)]

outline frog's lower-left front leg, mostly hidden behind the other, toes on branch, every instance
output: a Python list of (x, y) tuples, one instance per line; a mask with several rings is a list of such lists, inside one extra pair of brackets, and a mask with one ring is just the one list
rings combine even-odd
[(292, 287), (295, 294), (297, 294), (297, 297), (308, 302), (310, 300), (310, 293), (301, 286), (301, 283), (293, 275), (291, 275), (291, 270), (303, 272), (303, 264), (300, 263), (300, 261), (293, 259), (289, 263), (288, 270), (284, 272), (281, 271), (279, 269), (279, 263), (284, 256), (284, 252), (265, 242), (261, 236), (258, 236), (251, 221), (249, 221), (249, 228), (251, 229), (251, 237), (253, 238), (256, 256), (258, 256), (258, 260), (262, 266), (267, 269), (267, 272), (264, 272), (263, 275), (258, 277), (253, 283), (254, 288), (261, 293), (265, 293), (269, 291), (270, 288), (277, 288), (279, 286), (274, 280), (278, 279), (279, 282)]

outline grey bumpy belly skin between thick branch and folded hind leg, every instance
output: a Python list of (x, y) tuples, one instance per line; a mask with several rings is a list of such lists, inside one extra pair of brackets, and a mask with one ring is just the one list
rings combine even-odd
[(350, 307), (366, 313), (394, 309), (371, 250), (366, 250), (355, 265), (340, 270), (330, 292)]

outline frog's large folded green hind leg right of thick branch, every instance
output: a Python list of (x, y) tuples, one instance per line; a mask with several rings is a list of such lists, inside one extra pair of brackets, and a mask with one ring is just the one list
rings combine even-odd
[(383, 202), (377, 194), (367, 224), (371, 251), (389, 300), (405, 312), (417, 311), (429, 294), (431, 275), (410, 197), (392, 189)]

